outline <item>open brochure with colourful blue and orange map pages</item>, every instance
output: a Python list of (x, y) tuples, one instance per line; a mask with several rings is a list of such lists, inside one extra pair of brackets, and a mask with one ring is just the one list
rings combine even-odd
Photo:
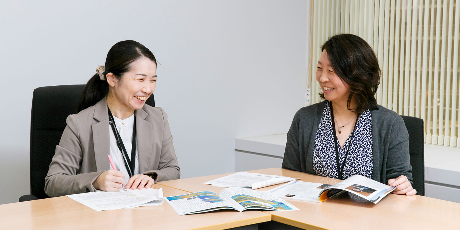
[(169, 196), (166, 197), (166, 201), (179, 215), (204, 213), (226, 208), (235, 209), (240, 212), (247, 209), (265, 209), (270, 211), (299, 210), (292, 204), (273, 196), (269, 192), (236, 187), (226, 188), (219, 195), (210, 191), (201, 191), (181, 196)]

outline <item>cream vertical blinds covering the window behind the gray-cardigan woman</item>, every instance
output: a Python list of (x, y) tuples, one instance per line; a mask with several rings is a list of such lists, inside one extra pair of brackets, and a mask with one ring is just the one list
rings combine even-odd
[(328, 37), (362, 37), (379, 59), (378, 104), (423, 119), (425, 142), (460, 148), (460, 0), (312, 0), (312, 104), (316, 61)]

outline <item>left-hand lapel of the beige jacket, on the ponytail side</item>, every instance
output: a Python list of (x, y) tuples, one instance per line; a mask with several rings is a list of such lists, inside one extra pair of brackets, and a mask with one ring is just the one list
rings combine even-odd
[(92, 125), (92, 138), (94, 144), (94, 157), (97, 171), (110, 169), (110, 139), (109, 139), (109, 111), (107, 110), (107, 99), (104, 97), (94, 106), (92, 118), (97, 122)]

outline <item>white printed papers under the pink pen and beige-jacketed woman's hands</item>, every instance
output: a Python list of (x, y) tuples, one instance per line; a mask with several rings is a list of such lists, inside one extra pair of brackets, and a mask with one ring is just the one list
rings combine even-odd
[(142, 190), (120, 189), (116, 192), (97, 191), (67, 196), (96, 211), (156, 206), (164, 202), (163, 190), (152, 188)]

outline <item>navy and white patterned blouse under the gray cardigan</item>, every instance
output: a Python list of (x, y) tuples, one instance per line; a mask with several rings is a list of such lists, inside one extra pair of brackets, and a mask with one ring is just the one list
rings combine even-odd
[[(324, 106), (321, 122), (316, 132), (313, 169), (317, 175), (338, 178), (330, 104), (331, 102), (327, 101)], [(350, 124), (353, 125), (353, 122)], [(342, 149), (340, 149), (339, 139), (337, 139), (340, 168), (343, 165), (348, 146), (351, 144), (342, 179), (354, 175), (372, 178), (372, 117), (369, 109), (363, 111), (358, 118), (351, 143), (350, 137), (351, 135), (345, 141)]]

